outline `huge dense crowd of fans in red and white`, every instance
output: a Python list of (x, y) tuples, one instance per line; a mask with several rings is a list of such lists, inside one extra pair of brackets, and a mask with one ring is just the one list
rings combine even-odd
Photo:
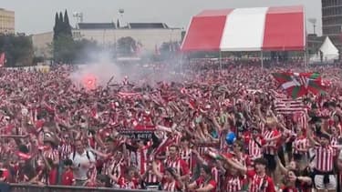
[[(301, 66), (205, 66), (173, 82), (130, 82), (127, 76), (90, 88), (72, 81), (73, 70), (1, 69), (2, 182), (191, 192), (340, 191), (337, 66), (306, 68), (332, 83), (326, 93), (302, 96), (300, 116), (277, 113), (276, 96), (285, 93), (271, 74), (300, 72)], [(162, 67), (157, 75), (158, 70)]]

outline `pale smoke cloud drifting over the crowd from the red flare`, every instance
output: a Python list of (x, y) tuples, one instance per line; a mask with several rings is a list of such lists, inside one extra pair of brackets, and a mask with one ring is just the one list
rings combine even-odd
[[(119, 84), (125, 76), (135, 85), (149, 84), (155, 85), (156, 82), (182, 82), (183, 74), (179, 73), (179, 59), (159, 62), (119, 62), (113, 59), (109, 51), (89, 51), (87, 56), (91, 57), (88, 64), (78, 65), (70, 78), (74, 84), (84, 86), (84, 79), (88, 76), (96, 77), (98, 86), (106, 86), (109, 79), (113, 76), (111, 84)], [(140, 64), (138, 64), (140, 63)]]

